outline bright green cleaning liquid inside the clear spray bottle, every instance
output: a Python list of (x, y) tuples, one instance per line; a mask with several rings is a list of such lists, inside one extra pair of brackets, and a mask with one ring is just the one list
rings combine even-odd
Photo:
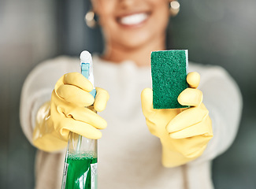
[(69, 154), (65, 162), (65, 189), (97, 189), (97, 158)]

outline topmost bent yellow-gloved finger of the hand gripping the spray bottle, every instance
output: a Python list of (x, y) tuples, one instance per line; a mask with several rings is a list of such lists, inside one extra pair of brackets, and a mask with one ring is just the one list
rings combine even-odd
[(63, 77), (63, 83), (75, 85), (87, 92), (90, 92), (93, 89), (91, 82), (79, 72), (70, 72), (65, 74)]

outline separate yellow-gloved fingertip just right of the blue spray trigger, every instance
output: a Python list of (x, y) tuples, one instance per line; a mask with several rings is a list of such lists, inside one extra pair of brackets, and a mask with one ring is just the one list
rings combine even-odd
[(106, 102), (109, 100), (109, 93), (99, 87), (96, 87), (96, 91), (94, 108), (97, 112), (102, 112), (106, 109)]

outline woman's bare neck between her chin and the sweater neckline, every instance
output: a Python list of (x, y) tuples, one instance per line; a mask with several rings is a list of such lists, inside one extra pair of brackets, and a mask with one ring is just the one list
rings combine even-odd
[(106, 50), (102, 55), (102, 59), (117, 64), (122, 61), (134, 61), (138, 66), (149, 66), (150, 52), (154, 50), (165, 50), (165, 37), (155, 39), (150, 43), (145, 43), (135, 48), (106, 43)]

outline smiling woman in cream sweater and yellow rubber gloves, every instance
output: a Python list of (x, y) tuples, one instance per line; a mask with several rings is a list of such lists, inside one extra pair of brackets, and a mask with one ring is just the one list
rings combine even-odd
[[(105, 39), (104, 53), (93, 57), (95, 86), (109, 95), (97, 88), (94, 102), (87, 93), (91, 83), (73, 73), (80, 72), (76, 58), (57, 57), (29, 74), (20, 120), (39, 148), (35, 187), (61, 187), (72, 131), (93, 139), (102, 136), (99, 188), (213, 188), (211, 160), (232, 144), (239, 124), (242, 102), (236, 83), (220, 67), (190, 63), (190, 88), (179, 102), (191, 108), (182, 113), (153, 109), (150, 51), (165, 50), (169, 1), (93, 0), (92, 6)], [(84, 110), (92, 103), (98, 111), (106, 107), (98, 113), (101, 117)]]

